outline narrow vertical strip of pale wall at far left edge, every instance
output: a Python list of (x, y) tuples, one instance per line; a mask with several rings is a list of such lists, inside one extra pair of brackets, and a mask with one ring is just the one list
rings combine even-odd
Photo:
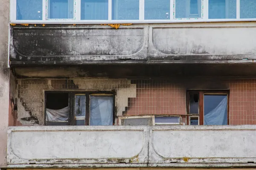
[(7, 128), (9, 113), (9, 0), (1, 0), (0, 5), (0, 167), (6, 167)]

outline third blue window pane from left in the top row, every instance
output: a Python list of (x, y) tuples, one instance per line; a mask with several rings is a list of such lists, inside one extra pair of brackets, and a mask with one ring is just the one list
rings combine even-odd
[(108, 20), (108, 0), (81, 0), (81, 20)]

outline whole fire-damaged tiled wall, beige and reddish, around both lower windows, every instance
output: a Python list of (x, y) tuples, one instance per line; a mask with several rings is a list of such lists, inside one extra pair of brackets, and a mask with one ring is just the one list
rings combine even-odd
[(17, 121), (20, 125), (44, 125), (44, 93), (60, 90), (114, 90), (116, 116), (180, 115), (183, 122), (187, 90), (225, 90), (229, 93), (229, 124), (256, 124), (255, 79), (31, 78), (17, 79)]

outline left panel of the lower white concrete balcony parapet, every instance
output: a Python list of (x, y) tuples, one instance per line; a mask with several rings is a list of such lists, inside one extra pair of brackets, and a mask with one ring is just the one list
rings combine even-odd
[(9, 127), (7, 159), (8, 164), (145, 164), (147, 135), (146, 127)]

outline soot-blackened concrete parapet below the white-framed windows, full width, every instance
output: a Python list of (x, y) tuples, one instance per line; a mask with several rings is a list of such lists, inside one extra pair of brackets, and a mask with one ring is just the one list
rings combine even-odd
[(256, 59), (255, 32), (255, 22), (134, 24), (119, 29), (17, 25), (11, 29), (11, 63), (235, 62), (233, 59)]

